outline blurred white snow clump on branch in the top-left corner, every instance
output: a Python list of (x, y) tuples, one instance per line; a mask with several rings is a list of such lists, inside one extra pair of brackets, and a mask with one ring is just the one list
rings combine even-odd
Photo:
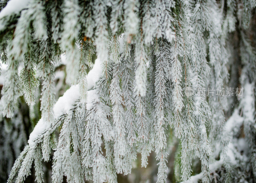
[(10, 0), (10, 1), (8, 1), (7, 5), (0, 12), (0, 19), (7, 15), (11, 15), (12, 13), (20, 12), (21, 10), (26, 8), (29, 1), (30, 0)]

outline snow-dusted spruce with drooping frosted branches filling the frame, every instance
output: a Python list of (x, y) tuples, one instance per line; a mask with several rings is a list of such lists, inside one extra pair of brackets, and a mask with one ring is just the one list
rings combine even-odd
[[(247, 34), (255, 8), (254, 0), (1, 0), (1, 115), (15, 117), (21, 95), (34, 105), (42, 83), (42, 117), (7, 182), (23, 182), (32, 164), (43, 182), (43, 161), (52, 162), (52, 182), (117, 182), (150, 155), (152, 181), (168, 182), (174, 142), (177, 182), (256, 179), (256, 52)], [(70, 88), (55, 102), (62, 55)], [(244, 95), (198, 90), (224, 87)]]

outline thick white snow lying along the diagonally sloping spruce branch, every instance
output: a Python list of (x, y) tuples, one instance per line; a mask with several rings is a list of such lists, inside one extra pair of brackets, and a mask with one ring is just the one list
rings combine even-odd
[[(95, 64), (92, 70), (89, 71), (86, 76), (87, 86), (88, 88), (92, 88), (95, 83), (100, 79), (102, 69), (101, 69), (102, 61), (100, 59), (95, 60)], [(87, 109), (92, 107), (92, 103), (97, 98), (95, 90), (87, 91), (87, 101), (86, 107)], [(63, 114), (68, 114), (75, 101), (80, 97), (79, 94), (79, 84), (71, 86), (62, 97), (58, 99), (53, 107), (54, 119), (59, 118)], [(46, 128), (48, 128), (51, 124), (46, 123), (42, 118), (36, 124), (34, 130), (29, 135), (28, 144), (29, 146), (33, 146), (35, 144), (34, 140), (40, 135)]]

